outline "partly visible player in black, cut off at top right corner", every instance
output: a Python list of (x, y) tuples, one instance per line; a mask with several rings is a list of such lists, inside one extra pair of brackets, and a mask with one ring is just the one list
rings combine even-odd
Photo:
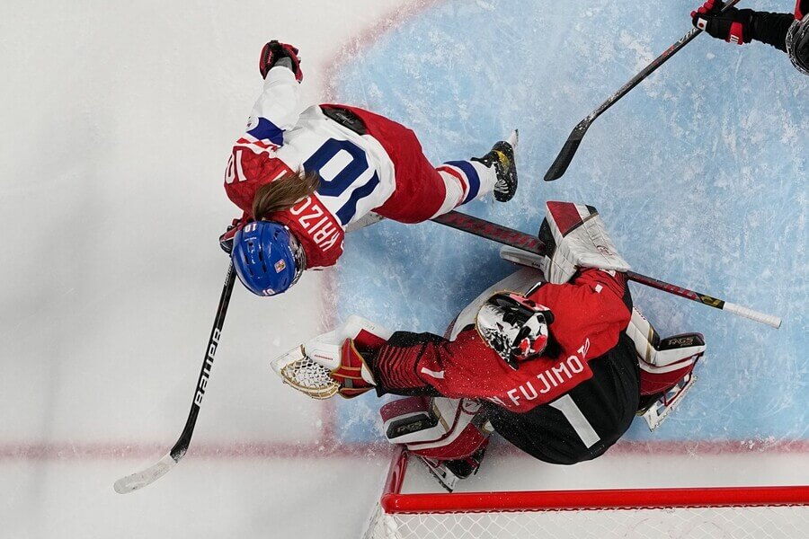
[(789, 55), (792, 64), (809, 75), (809, 0), (796, 0), (795, 13), (757, 12), (731, 7), (722, 13), (722, 0), (707, 0), (691, 12), (691, 22), (719, 40), (743, 45), (768, 43)]

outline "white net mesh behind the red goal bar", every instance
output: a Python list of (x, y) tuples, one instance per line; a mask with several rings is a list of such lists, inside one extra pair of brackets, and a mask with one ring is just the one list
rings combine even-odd
[(809, 536), (809, 506), (542, 510), (386, 515), (364, 539), (792, 539)]

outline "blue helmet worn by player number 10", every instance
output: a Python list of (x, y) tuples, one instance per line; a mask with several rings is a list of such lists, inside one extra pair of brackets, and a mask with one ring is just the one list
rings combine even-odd
[(285, 292), (306, 268), (298, 239), (272, 221), (244, 225), (233, 239), (231, 259), (239, 280), (257, 296)]

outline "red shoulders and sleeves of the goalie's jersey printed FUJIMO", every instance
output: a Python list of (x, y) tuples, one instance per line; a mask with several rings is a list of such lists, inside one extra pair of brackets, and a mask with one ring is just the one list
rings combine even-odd
[(486, 399), (513, 411), (551, 402), (592, 376), (588, 362), (618, 344), (629, 323), (622, 274), (583, 270), (572, 283), (546, 284), (531, 298), (554, 313), (557, 346), (509, 367), (474, 326), (446, 340), (431, 333), (397, 331), (373, 361), (379, 393), (439, 393)]

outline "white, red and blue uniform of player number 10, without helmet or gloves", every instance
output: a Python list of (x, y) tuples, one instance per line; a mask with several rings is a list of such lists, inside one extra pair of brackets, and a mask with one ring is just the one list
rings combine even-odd
[[(253, 218), (253, 197), (262, 185), (289, 172), (317, 172), (316, 193), (269, 217), (296, 235), (308, 268), (333, 265), (342, 254), (345, 227), (371, 210), (416, 223), (493, 189), (494, 172), (481, 163), (450, 162), (436, 170), (410, 129), (342, 105), (298, 112), (298, 93), (288, 68), (270, 70), (246, 133), (233, 147), (225, 190), (244, 217)], [(347, 111), (364, 125), (353, 130), (324, 108)]]

